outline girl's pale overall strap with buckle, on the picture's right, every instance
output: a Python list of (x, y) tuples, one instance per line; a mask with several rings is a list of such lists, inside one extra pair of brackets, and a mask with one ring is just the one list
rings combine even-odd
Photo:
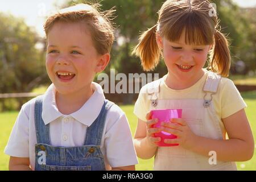
[(208, 73), (207, 80), (205, 81), (203, 89), (203, 91), (205, 92), (204, 107), (208, 107), (210, 105), (210, 101), (212, 101), (212, 95), (217, 92), (220, 80), (221, 75), (213, 72)]

